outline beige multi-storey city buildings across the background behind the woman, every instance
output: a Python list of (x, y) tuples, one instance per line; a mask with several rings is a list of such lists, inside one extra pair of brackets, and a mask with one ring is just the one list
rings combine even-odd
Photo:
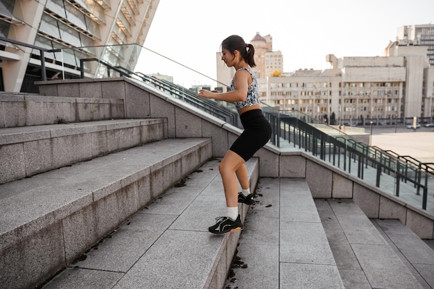
[[(427, 26), (416, 27), (427, 30)], [(372, 120), (392, 123), (397, 118), (414, 117), (432, 121), (434, 68), (429, 60), (431, 42), (428, 42), (429, 37), (420, 36), (422, 33), (418, 35), (420, 41), (417, 44), (408, 40), (390, 42), (383, 57), (338, 59), (327, 55), (331, 69), (277, 73), (277, 64), (270, 63), (273, 58), (265, 56), (274, 53), (266, 51), (272, 48), (271, 37), (261, 37), (257, 33), (251, 43), (258, 46), (255, 51), (259, 52), (257, 71), (261, 101), (280, 110), (298, 110), (321, 121), (347, 125), (365, 125)], [(281, 68), (283, 71), (283, 66)]]

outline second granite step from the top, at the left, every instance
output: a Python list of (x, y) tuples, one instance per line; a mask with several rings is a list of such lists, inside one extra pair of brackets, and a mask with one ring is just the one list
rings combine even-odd
[(166, 119), (0, 129), (0, 184), (167, 138)]

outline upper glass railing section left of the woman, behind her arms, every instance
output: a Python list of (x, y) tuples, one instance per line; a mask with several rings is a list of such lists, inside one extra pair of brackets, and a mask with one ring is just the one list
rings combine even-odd
[[(196, 98), (199, 89), (227, 91), (226, 84), (137, 44), (82, 47), (80, 50), (86, 51), (87, 55), (82, 58), (78, 70), (87, 78), (128, 76), (241, 128), (232, 103)], [(69, 51), (64, 49), (63, 53)]]

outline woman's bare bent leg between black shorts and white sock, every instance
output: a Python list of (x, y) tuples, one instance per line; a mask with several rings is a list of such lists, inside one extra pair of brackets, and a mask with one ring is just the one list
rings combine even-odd
[[(232, 152), (232, 150), (228, 150), (218, 166), (223, 181), (223, 189), (225, 190), (227, 207), (238, 207), (238, 173), (236, 172), (241, 167), (245, 168), (244, 163), (245, 161), (242, 157)], [(242, 170), (241, 168), (241, 175), (243, 175)], [(245, 179), (248, 179), (247, 170), (245, 170)], [(245, 181), (243, 180), (243, 182)]]

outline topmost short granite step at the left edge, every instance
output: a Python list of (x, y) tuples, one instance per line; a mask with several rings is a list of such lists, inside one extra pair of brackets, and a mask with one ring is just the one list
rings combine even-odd
[(123, 99), (0, 92), (0, 128), (123, 118)]

